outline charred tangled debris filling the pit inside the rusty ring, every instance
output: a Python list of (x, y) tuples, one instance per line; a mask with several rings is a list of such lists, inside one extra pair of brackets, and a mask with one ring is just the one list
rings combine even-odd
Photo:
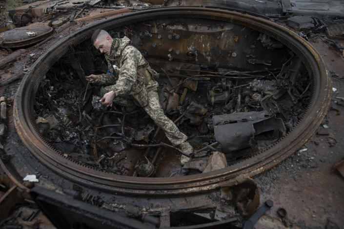
[[(189, 29), (180, 34), (158, 32), (152, 38), (142, 29), (152, 24), (125, 27), (112, 35), (131, 38), (160, 72), (161, 105), (189, 136), (195, 148), (191, 162), (180, 166), (178, 159), (183, 152), (171, 146), (142, 108), (101, 106), (97, 99), (100, 88), (88, 85), (85, 75), (106, 72), (107, 66), (89, 40), (57, 61), (38, 88), (34, 106), (37, 129), (57, 153), (117, 175), (197, 174), (202, 173), (213, 152), (225, 155), (225, 166), (236, 163), (278, 142), (303, 117), (311, 100), (312, 82), (302, 60), (281, 43), (257, 32), (252, 39), (262, 50), (270, 54), (284, 50), (284, 54), (273, 61), (248, 56), (247, 64), (254, 68), (224, 68), (211, 61), (202, 63), (204, 53), (193, 49), (185, 51), (184, 59), (173, 58), (179, 50), (172, 51), (169, 44), (165, 45), (167, 58), (161, 57), (166, 53), (159, 50), (155, 54), (147, 51), (144, 46), (154, 49), (162, 36), (167, 42), (178, 40)], [(145, 39), (151, 39), (150, 43), (142, 44)], [(230, 58), (236, 55), (232, 52)], [(224, 57), (221, 54), (217, 58)]]

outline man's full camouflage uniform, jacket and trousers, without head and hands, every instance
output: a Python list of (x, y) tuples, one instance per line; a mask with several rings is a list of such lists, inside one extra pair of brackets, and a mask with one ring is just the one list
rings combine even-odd
[[(159, 85), (152, 79), (158, 73), (150, 69), (140, 51), (130, 46), (130, 39), (126, 36), (121, 39), (114, 38), (110, 54), (105, 55), (105, 59), (108, 69), (113, 75), (110, 73), (98, 75), (98, 84), (108, 85), (104, 87), (105, 90), (115, 92), (114, 103), (121, 106), (132, 106), (132, 102), (134, 102), (136, 105), (142, 106), (173, 145), (181, 145), (184, 152), (191, 153), (192, 146), (186, 142), (186, 135), (180, 132), (178, 127), (163, 113), (158, 97)], [(114, 70), (113, 64), (119, 70)], [(148, 70), (146, 70), (147, 66)], [(146, 75), (149, 74), (148, 79), (142, 77), (144, 74), (142, 72), (145, 72)]]

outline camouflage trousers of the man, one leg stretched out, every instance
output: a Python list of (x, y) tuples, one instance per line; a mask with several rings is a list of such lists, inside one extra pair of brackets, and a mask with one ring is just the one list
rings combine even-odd
[[(180, 145), (187, 140), (187, 136), (183, 134), (175, 123), (172, 122), (163, 113), (158, 96), (158, 83), (156, 81), (149, 82), (147, 86), (148, 104), (142, 108), (147, 112), (155, 124), (162, 129), (166, 137), (173, 145)], [(114, 103), (121, 106), (133, 106), (133, 100), (122, 97), (115, 97)]]

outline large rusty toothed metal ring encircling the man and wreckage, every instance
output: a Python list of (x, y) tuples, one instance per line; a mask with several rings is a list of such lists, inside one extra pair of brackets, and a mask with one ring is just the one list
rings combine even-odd
[[(40, 81), (49, 68), (75, 46), (89, 39), (96, 29), (116, 29), (142, 20), (160, 18), (202, 18), (231, 22), (267, 34), (302, 59), (312, 82), (312, 102), (297, 126), (277, 143), (251, 158), (227, 168), (205, 174), (183, 177), (118, 176), (83, 166), (65, 158), (42, 138), (34, 122), (33, 103)], [(142, 196), (175, 196), (210, 192), (222, 185), (235, 183), (238, 175), (255, 176), (286, 159), (299, 149), (322, 122), (331, 98), (331, 80), (321, 56), (303, 38), (271, 21), (228, 10), (202, 7), (162, 7), (136, 11), (92, 24), (53, 45), (34, 64), (21, 82), (15, 99), (15, 125), (21, 141), (42, 164), (61, 176), (87, 187), (111, 193)]]

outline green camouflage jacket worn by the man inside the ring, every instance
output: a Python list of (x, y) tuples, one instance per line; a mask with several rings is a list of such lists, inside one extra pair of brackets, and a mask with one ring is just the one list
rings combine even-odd
[[(107, 91), (113, 90), (116, 96), (125, 97), (140, 92), (141, 88), (133, 91), (133, 88), (137, 88), (134, 84), (141, 84), (144, 91), (147, 89), (145, 85), (142, 86), (142, 79), (137, 77), (138, 67), (144, 66), (146, 61), (140, 51), (133, 46), (128, 46), (129, 44), (130, 39), (126, 36), (121, 39), (114, 38), (110, 54), (105, 55), (108, 70), (112, 74), (98, 75), (98, 84), (106, 86), (104, 88)], [(119, 70), (115, 70), (113, 65), (116, 65)]]

